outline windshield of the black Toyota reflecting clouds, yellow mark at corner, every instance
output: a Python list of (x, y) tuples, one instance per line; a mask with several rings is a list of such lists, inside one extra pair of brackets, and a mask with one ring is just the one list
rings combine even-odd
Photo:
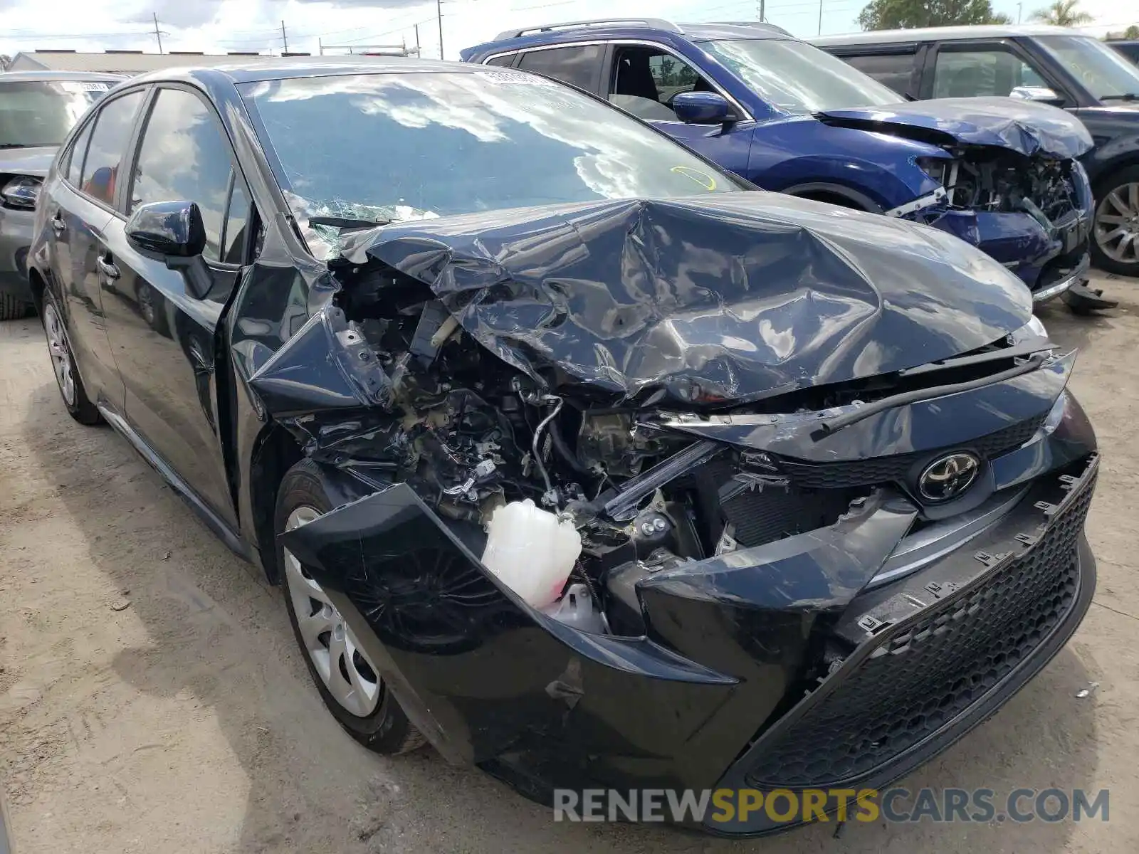
[(320, 228), (741, 189), (588, 96), (513, 71), (249, 83), (294, 213)]

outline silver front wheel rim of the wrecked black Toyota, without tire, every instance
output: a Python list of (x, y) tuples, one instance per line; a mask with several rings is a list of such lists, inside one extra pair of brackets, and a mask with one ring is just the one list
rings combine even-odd
[[(289, 514), (285, 529), (306, 525), (318, 516), (320, 512), (314, 508), (298, 507)], [(288, 594), (304, 651), (336, 701), (357, 717), (367, 717), (376, 711), (383, 689), (375, 666), (320, 584), (288, 549), (284, 550), (284, 557)]]

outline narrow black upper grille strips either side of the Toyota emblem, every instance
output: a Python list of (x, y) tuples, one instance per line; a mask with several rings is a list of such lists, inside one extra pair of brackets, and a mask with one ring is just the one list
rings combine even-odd
[[(1047, 417), (1047, 413), (1044, 413), (1024, 421), (1017, 421), (1008, 427), (1002, 427), (995, 433), (990, 433), (988, 436), (981, 436), (945, 450), (967, 447), (978, 453), (983, 459), (993, 459), (1019, 447), (1032, 438)], [(868, 460), (845, 460), (842, 462), (823, 463), (780, 459), (779, 466), (790, 476), (792, 482), (797, 486), (818, 490), (839, 490), (850, 486), (903, 483), (913, 463), (929, 457), (931, 453), (931, 451), (921, 451), (919, 453), (877, 457)]]

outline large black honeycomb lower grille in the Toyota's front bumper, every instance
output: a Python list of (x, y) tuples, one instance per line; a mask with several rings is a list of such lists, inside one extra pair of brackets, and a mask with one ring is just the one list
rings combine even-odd
[(991, 691), (1063, 622), (1079, 588), (1077, 536), (1093, 483), (1041, 540), (964, 596), (934, 606), (854, 665), (762, 750), (751, 783), (828, 786), (933, 736)]

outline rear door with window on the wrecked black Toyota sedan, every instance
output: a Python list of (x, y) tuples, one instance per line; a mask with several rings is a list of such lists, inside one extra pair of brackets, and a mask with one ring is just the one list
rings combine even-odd
[(106, 304), (114, 299), (113, 282), (104, 274), (100, 258), (107, 230), (120, 217), (114, 206), (120, 166), (145, 96), (138, 89), (103, 102), (76, 137), (67, 171), (44, 200), (54, 241), (52, 271), (80, 373), (92, 400), (120, 412), (124, 389), (105, 314)]

